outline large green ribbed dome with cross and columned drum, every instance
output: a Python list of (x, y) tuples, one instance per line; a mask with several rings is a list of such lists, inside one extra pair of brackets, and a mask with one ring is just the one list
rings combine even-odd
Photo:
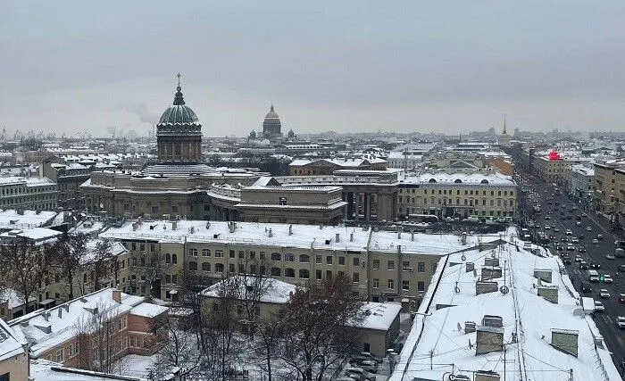
[(156, 125), (159, 162), (202, 162), (202, 125), (196, 112), (185, 104), (178, 87), (173, 104), (162, 113)]

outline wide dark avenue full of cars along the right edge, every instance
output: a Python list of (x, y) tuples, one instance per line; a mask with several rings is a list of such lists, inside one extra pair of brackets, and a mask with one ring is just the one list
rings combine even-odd
[[(529, 181), (522, 186), (529, 186), (536, 193), (535, 200), (539, 200), (540, 212), (534, 212), (532, 219), (536, 222), (537, 228), (532, 229), (533, 233), (543, 231), (547, 236), (553, 236), (550, 239), (549, 248), (553, 253), (566, 254), (571, 257), (571, 264), (565, 266), (575, 289), (582, 296), (592, 297), (596, 301), (604, 304), (605, 311), (595, 312), (596, 325), (601, 334), (604, 336), (604, 343), (612, 352), (614, 362), (621, 364), (621, 360), (625, 359), (625, 329), (620, 329), (616, 325), (617, 316), (625, 315), (625, 303), (619, 302), (619, 294), (625, 294), (625, 272), (620, 272), (618, 267), (625, 263), (622, 258), (607, 259), (606, 254), (613, 254), (616, 246), (614, 244), (615, 236), (612, 235), (603, 226), (596, 223), (596, 218), (590, 215), (589, 210), (573, 210), (579, 207), (571, 202), (567, 197), (562, 195), (562, 191), (554, 191), (552, 184), (538, 182), (536, 179), (525, 176)], [(531, 203), (521, 203), (524, 205), (524, 214), (526, 217), (532, 214)], [(583, 206), (582, 206), (583, 209)], [(588, 208), (589, 209), (589, 208)], [(587, 217), (580, 217), (578, 221), (576, 216), (588, 213)], [(568, 217), (571, 216), (571, 219)], [(578, 224), (580, 222), (580, 224)], [(580, 226), (578, 226), (580, 225)], [(547, 229), (546, 226), (549, 226)], [(589, 227), (589, 230), (588, 230)], [(559, 229), (559, 232), (556, 230)], [(566, 231), (571, 230), (571, 234), (567, 235)], [(603, 239), (597, 239), (597, 243), (593, 244), (593, 239), (597, 235), (603, 235)], [(573, 237), (579, 240), (579, 243), (573, 242)], [(566, 242), (563, 241), (566, 239)], [(555, 250), (554, 243), (562, 245), (562, 250)], [(568, 250), (571, 245), (574, 250)], [(579, 247), (586, 248), (586, 252), (580, 252)], [(587, 269), (580, 269), (579, 263), (575, 261), (576, 257), (581, 257), (588, 265), (599, 265), (596, 269), (600, 275), (612, 276), (613, 283), (589, 282)], [(582, 283), (591, 288), (590, 293), (582, 293)], [(606, 289), (610, 293), (610, 298), (602, 298), (600, 290)]]

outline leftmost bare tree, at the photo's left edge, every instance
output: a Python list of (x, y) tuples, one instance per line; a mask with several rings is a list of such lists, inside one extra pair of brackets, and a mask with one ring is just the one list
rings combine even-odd
[(0, 245), (4, 284), (22, 297), (24, 314), (28, 312), (29, 299), (42, 288), (41, 281), (46, 277), (48, 269), (47, 258), (40, 247), (26, 239)]

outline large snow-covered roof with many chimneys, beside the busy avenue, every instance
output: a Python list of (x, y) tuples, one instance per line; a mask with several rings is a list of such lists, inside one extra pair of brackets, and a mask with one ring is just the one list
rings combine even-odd
[[(521, 242), (511, 238), (512, 231), (505, 237), (510, 243), (495, 250), (471, 250), (441, 259), (391, 381), (446, 379), (452, 371), (471, 378), (477, 370), (503, 375), (504, 369), (507, 379), (518, 378), (519, 369), (533, 381), (569, 379), (570, 369), (573, 379), (620, 379), (610, 353), (596, 345), (595, 322), (579, 311), (579, 294), (571, 279), (561, 274), (562, 261), (546, 251), (535, 255), (517, 246)], [(476, 281), (488, 269), (485, 260), (491, 258), (499, 260), (502, 277), (493, 279), (494, 292), (476, 294)], [(467, 271), (469, 262), (475, 272)], [(538, 281), (536, 269), (551, 270), (551, 282)], [(538, 296), (538, 286), (557, 290), (557, 303)], [(501, 327), (484, 324), (486, 315), (501, 318)], [(476, 354), (477, 333), (465, 334), (465, 322), (474, 322), (479, 330), (503, 333), (505, 363), (502, 351)], [(577, 356), (554, 347), (554, 330), (577, 333)]]

